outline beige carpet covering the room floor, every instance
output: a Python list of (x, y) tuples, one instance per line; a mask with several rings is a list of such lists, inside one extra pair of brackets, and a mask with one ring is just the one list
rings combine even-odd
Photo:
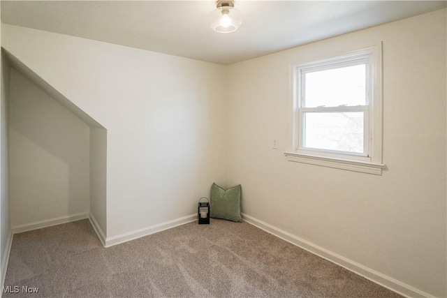
[(249, 223), (216, 219), (110, 248), (88, 220), (15, 234), (5, 285), (15, 298), (401, 297)]

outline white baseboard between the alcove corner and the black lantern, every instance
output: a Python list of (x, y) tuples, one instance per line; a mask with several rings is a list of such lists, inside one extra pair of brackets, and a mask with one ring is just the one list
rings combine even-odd
[(197, 220), (197, 214), (191, 214), (189, 216), (176, 218), (172, 221), (166, 221), (164, 223), (151, 225), (150, 227), (142, 228), (140, 230), (135, 230), (133, 232), (127, 232), (125, 234), (120, 234), (120, 235), (117, 235), (114, 237), (107, 237), (105, 239), (105, 247), (114, 246), (117, 244), (124, 243), (126, 241), (138, 239), (140, 237), (145, 237), (149, 234), (154, 234), (156, 232), (168, 230), (170, 228), (177, 227), (177, 225), (184, 225), (185, 223), (191, 223), (191, 221), (196, 221), (196, 220)]

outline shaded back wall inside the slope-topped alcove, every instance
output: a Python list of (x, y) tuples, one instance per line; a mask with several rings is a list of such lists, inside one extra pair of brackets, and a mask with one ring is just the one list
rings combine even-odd
[(11, 68), (13, 228), (89, 213), (89, 126)]

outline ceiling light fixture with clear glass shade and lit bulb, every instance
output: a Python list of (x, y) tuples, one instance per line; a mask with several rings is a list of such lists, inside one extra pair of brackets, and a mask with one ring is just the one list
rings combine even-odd
[(233, 0), (217, 0), (216, 8), (210, 15), (210, 27), (219, 33), (230, 33), (242, 25), (240, 11)]

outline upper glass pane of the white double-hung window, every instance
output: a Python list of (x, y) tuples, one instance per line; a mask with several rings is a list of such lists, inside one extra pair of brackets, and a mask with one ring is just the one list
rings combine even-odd
[(304, 74), (302, 107), (366, 105), (366, 65), (318, 70)]

